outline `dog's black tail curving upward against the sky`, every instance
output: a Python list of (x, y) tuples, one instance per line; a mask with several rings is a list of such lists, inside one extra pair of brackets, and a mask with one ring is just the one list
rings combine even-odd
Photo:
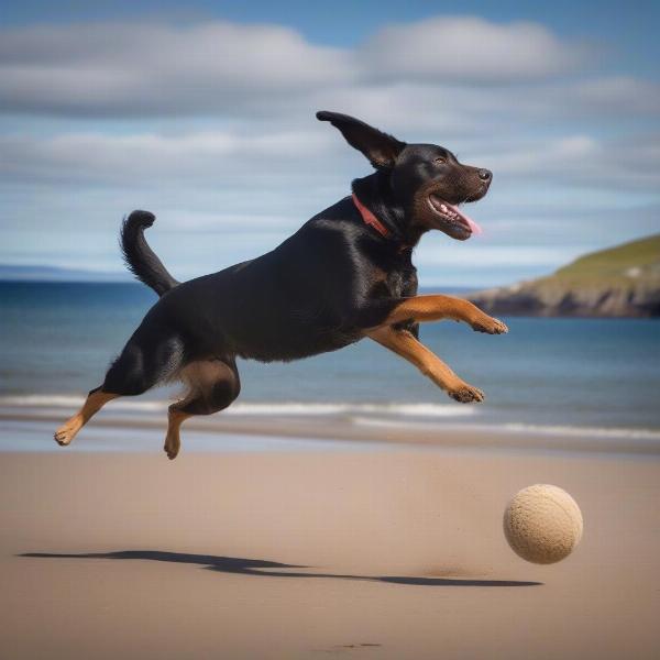
[(162, 296), (178, 282), (167, 272), (144, 238), (144, 229), (151, 227), (155, 219), (148, 211), (133, 211), (121, 226), (120, 243), (129, 271)]

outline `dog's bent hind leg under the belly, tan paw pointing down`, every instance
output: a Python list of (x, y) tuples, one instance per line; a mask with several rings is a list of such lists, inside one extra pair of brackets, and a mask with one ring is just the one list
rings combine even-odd
[(195, 415), (212, 415), (229, 407), (241, 392), (241, 381), (233, 360), (200, 360), (180, 372), (189, 392), (169, 406), (164, 450), (169, 460), (180, 450), (180, 427)]

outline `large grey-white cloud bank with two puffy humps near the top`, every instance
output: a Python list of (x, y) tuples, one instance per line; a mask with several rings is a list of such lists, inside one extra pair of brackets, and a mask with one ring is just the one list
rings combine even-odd
[(6, 112), (258, 116), (292, 95), (384, 79), (538, 81), (583, 55), (541, 25), (469, 16), (393, 25), (352, 50), (228, 22), (10, 28), (0, 31), (0, 102)]

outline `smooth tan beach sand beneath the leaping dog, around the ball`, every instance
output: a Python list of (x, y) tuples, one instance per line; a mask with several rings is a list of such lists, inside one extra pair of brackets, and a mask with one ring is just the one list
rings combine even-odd
[[(538, 482), (584, 515), (550, 566), (502, 530)], [(63, 449), (0, 495), (7, 659), (660, 657), (657, 455)]]

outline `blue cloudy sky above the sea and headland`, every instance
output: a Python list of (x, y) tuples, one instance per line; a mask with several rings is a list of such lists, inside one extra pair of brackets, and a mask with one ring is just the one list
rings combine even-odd
[(6, 1), (0, 264), (177, 278), (267, 252), (371, 172), (320, 109), (494, 172), (426, 286), (491, 286), (660, 231), (658, 2)]

